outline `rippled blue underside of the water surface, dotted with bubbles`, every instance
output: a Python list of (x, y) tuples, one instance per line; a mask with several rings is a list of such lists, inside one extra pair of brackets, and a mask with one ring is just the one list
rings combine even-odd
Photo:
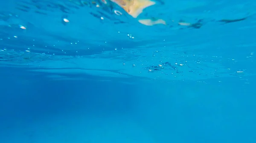
[[(1, 7), (1, 66), (56, 79), (92, 74), (172, 81), (254, 74), (248, 69), (254, 36), (246, 35), (255, 32), (255, 3), (159, 0), (136, 18), (115, 0), (10, 0)], [(138, 22), (145, 19), (165, 23)]]

